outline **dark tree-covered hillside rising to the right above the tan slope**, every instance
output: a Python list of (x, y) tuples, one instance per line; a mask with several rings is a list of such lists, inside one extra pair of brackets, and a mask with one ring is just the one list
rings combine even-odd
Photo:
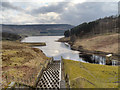
[(118, 33), (120, 16), (110, 16), (98, 20), (82, 23), (71, 30), (65, 31), (65, 37), (88, 38), (100, 34)]

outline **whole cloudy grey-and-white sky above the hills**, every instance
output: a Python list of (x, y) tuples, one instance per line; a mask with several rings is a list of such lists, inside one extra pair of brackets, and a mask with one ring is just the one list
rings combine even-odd
[(2, 0), (1, 24), (79, 25), (118, 14), (119, 0)]

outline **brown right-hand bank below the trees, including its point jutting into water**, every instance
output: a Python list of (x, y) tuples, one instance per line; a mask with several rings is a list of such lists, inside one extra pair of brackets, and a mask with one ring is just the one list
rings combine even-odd
[(102, 34), (82, 39), (77, 37), (64, 37), (60, 38), (58, 41), (68, 42), (71, 45), (71, 48), (75, 50), (79, 50), (79, 47), (82, 47), (84, 50), (89, 51), (118, 54), (118, 34)]

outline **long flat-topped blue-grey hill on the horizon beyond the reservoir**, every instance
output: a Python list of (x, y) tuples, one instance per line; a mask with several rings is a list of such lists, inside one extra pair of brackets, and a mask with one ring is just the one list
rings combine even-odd
[(64, 31), (73, 28), (69, 24), (37, 24), (37, 25), (0, 25), (3, 32), (19, 35), (64, 35)]

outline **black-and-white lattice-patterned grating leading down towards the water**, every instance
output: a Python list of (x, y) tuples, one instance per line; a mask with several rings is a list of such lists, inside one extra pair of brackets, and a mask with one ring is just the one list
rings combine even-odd
[(54, 61), (43, 72), (37, 88), (60, 88), (60, 62)]

